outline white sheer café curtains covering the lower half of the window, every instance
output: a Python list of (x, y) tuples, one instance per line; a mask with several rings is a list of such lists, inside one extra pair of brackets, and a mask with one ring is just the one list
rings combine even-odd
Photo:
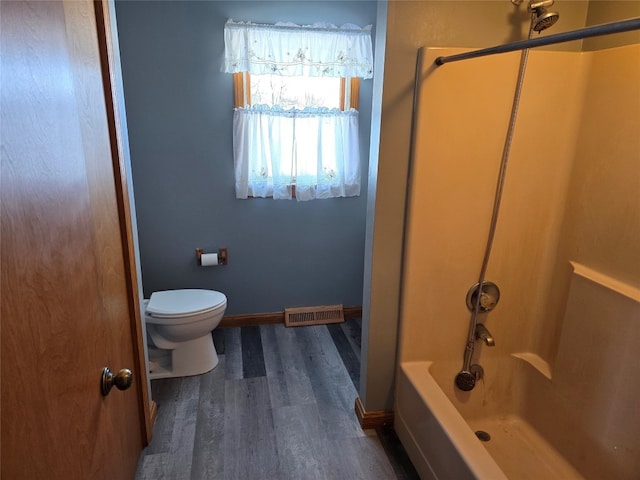
[(300, 201), (360, 194), (355, 110), (238, 108), (233, 149), (237, 198), (290, 199), (292, 183)]

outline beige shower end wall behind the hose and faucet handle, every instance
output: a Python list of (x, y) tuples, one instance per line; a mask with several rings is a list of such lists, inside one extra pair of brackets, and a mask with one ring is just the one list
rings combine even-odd
[[(462, 358), (487, 241), (520, 54), (434, 68), (418, 88), (402, 300), (402, 360)], [(482, 318), (496, 347), (529, 351), (545, 311), (584, 91), (581, 56), (531, 51), (486, 280), (502, 292)], [(480, 348), (477, 353), (480, 353)]]

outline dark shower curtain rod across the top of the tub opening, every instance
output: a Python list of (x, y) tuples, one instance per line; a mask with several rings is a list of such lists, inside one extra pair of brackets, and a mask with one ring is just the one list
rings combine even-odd
[(467, 60), (469, 58), (484, 57), (486, 55), (513, 52), (515, 50), (524, 50), (525, 48), (542, 47), (544, 45), (553, 45), (555, 43), (582, 40), (583, 38), (599, 37), (601, 35), (629, 32), (632, 30), (640, 30), (640, 17), (621, 20), (618, 22), (603, 23), (602, 25), (595, 25), (593, 27), (581, 28), (570, 32), (556, 33), (554, 35), (547, 35), (546, 37), (532, 38), (531, 40), (521, 40), (519, 42), (507, 43), (496, 47), (483, 48), (481, 50), (459, 53), (457, 55), (449, 55), (447, 57), (438, 57), (435, 59), (434, 63), (440, 66), (445, 63)]

